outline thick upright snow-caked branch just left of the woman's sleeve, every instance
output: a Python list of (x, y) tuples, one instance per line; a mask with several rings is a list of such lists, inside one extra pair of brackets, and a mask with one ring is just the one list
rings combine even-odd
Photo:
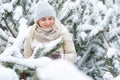
[[(1, 54), (2, 56), (16, 56), (19, 58), (22, 58), (21, 49), (23, 47), (23, 41), (26, 36), (26, 30), (27, 30), (27, 22), (26, 19), (20, 20), (20, 26), (19, 26), (19, 33), (17, 38), (14, 39), (13, 45), (10, 47), (7, 47), (4, 52)], [(24, 35), (23, 35), (24, 34)]]

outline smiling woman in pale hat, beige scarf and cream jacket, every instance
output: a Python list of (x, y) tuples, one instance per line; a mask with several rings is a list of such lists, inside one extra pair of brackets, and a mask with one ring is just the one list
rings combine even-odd
[[(68, 30), (56, 19), (54, 8), (45, 1), (39, 2), (36, 6), (35, 24), (30, 27), (28, 36), (24, 43), (24, 57), (28, 58), (33, 54), (35, 49), (34, 43), (42, 43), (43, 45), (62, 38), (63, 46), (54, 51), (51, 56), (62, 57), (65, 60), (74, 62), (76, 59), (76, 51), (74, 43)], [(55, 53), (59, 53), (56, 55)]]

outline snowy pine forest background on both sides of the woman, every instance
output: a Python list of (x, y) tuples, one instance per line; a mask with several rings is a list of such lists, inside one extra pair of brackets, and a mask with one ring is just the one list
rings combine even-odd
[[(26, 30), (34, 24), (38, 1), (0, 0), (0, 69), (17, 69), (17, 74), (27, 70), (21, 69), (25, 64), (15, 64), (22, 58)], [(120, 80), (120, 0), (48, 1), (72, 33), (77, 67), (94, 80)]]

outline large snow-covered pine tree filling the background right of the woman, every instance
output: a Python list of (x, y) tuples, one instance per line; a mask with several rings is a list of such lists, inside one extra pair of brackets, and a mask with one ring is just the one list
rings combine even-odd
[(67, 0), (58, 14), (73, 33), (78, 67), (95, 80), (102, 80), (108, 70), (104, 56), (109, 46), (119, 52), (120, 13), (115, 1)]

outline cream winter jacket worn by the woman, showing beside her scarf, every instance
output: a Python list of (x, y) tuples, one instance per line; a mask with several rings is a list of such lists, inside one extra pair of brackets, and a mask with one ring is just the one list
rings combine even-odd
[[(61, 37), (64, 41), (64, 45), (58, 50), (60, 51), (60, 54), (63, 55), (62, 56), (63, 59), (69, 60), (71, 62), (75, 62), (76, 50), (75, 50), (74, 43), (72, 41), (72, 37), (70, 33), (68, 32), (68, 30), (63, 25), (61, 27), (62, 27)], [(29, 32), (24, 42), (24, 57), (25, 58), (32, 56), (33, 51), (35, 49), (35, 46), (33, 45), (33, 43), (38, 43), (34, 39), (35, 29), (36, 29), (36, 24), (29, 27)], [(45, 44), (47, 44), (47, 42), (45, 42)]]

